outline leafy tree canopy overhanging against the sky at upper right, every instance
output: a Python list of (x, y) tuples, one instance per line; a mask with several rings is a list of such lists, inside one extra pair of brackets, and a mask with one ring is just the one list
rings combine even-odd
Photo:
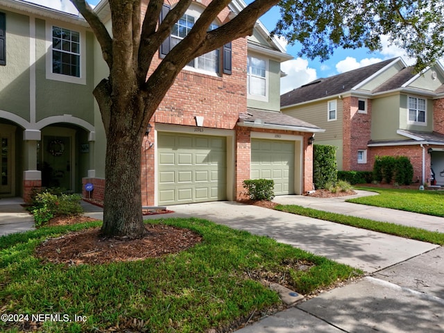
[(418, 70), (444, 53), (444, 2), (434, 0), (282, 0), (273, 31), (299, 42), (299, 56), (326, 60), (337, 47), (381, 49), (382, 35), (416, 58)]

